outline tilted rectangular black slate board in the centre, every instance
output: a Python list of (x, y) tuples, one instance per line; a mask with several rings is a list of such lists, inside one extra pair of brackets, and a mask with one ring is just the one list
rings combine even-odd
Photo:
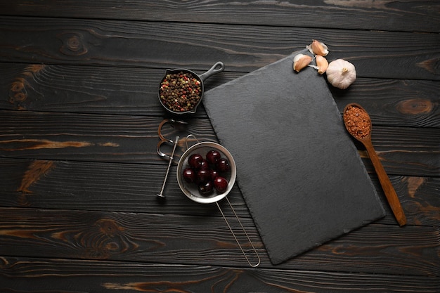
[(325, 78), (295, 54), (203, 98), (273, 264), (384, 216)]

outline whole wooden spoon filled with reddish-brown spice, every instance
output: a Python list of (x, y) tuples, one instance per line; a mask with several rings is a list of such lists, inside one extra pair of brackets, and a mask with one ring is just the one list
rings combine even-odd
[(373, 148), (373, 143), (371, 143), (370, 116), (361, 105), (351, 103), (344, 108), (344, 124), (349, 134), (365, 145), (397, 222), (400, 226), (406, 225), (406, 216), (399, 202), (399, 197), (397, 197), (396, 190), (394, 190), (391, 181), (389, 181), (389, 177)]

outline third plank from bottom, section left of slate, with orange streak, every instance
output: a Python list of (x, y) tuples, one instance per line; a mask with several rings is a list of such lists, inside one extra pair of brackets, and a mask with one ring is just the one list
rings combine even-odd
[[(5, 174), (0, 176), (3, 207), (221, 216), (215, 205), (200, 205), (183, 195), (177, 185), (175, 165), (164, 189), (167, 201), (161, 202), (156, 195), (162, 187), (164, 165), (21, 159), (0, 162)], [(236, 186), (228, 199), (237, 214), (250, 218)], [(233, 216), (228, 206), (222, 210)]]

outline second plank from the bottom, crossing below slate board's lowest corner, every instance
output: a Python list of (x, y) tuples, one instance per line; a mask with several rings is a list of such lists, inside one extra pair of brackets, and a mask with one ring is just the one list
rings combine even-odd
[[(221, 217), (22, 208), (0, 213), (0, 255), (247, 267)], [(245, 245), (238, 223), (229, 221)], [(259, 251), (261, 268), (440, 273), (439, 227), (371, 224), (273, 266), (252, 220), (240, 221)]]

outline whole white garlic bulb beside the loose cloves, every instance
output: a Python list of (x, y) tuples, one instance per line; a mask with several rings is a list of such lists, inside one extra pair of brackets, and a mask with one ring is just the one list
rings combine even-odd
[(327, 80), (338, 89), (347, 89), (356, 80), (356, 69), (344, 59), (337, 59), (328, 64)]

